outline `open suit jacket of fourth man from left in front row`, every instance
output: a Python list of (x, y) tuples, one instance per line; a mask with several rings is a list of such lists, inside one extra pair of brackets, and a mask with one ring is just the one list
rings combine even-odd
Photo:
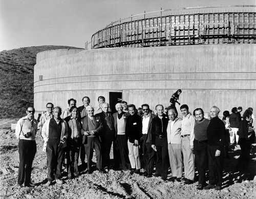
[[(88, 116), (84, 117), (82, 120), (82, 129), (81, 129), (81, 134), (82, 136), (82, 144), (86, 144), (87, 143), (87, 137), (84, 135), (84, 132), (89, 131), (89, 127), (88, 127), (88, 120), (91, 120)], [(100, 117), (95, 117), (93, 116), (93, 124), (95, 125), (95, 136), (99, 136), (100, 132), (102, 131), (102, 122), (100, 121)]]

